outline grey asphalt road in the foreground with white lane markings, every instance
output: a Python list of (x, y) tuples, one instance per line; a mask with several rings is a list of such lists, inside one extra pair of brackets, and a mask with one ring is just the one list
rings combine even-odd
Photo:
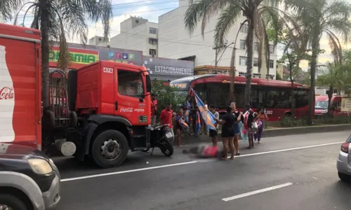
[[(56, 210), (345, 209), (351, 184), (339, 181), (336, 157), (350, 132), (263, 139), (234, 160), (195, 160), (176, 148), (128, 155), (115, 169), (56, 158), (62, 200)], [(245, 145), (244, 145), (245, 144)], [(147, 163), (148, 162), (148, 163)]]

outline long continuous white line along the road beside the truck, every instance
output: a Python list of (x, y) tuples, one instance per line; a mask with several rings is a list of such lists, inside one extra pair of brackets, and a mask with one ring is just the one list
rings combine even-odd
[[(241, 158), (241, 157), (247, 157), (247, 156), (254, 156), (254, 155), (264, 155), (264, 154), (270, 154), (270, 153), (281, 153), (285, 151), (296, 151), (304, 148), (314, 148), (314, 147), (319, 147), (319, 146), (329, 146), (333, 144), (342, 144), (345, 141), (340, 141), (340, 142), (334, 142), (334, 143), (328, 143), (328, 144), (317, 144), (317, 145), (312, 145), (312, 146), (300, 146), (296, 148), (287, 148), (287, 149), (282, 149), (282, 150), (277, 150), (277, 151), (267, 151), (267, 152), (261, 152), (261, 153), (251, 153), (251, 154), (246, 154), (246, 155), (239, 155), (235, 156), (235, 158)], [(228, 157), (230, 158), (230, 157)], [(188, 165), (192, 163), (198, 163), (198, 162), (213, 162), (215, 160), (211, 159), (203, 159), (203, 160), (194, 160), (190, 162), (180, 162), (180, 163), (175, 163), (175, 164), (170, 164), (170, 165), (161, 165), (157, 167), (146, 167), (146, 168), (141, 168), (141, 169), (131, 169), (131, 170), (126, 170), (126, 171), (121, 171), (121, 172), (111, 172), (111, 173), (105, 173), (105, 174), (94, 174), (90, 176), (79, 176), (79, 177), (74, 177), (74, 178), (69, 178), (69, 179), (61, 179), (62, 182), (64, 181), (75, 181), (79, 179), (91, 179), (95, 177), (100, 177), (100, 176), (112, 176), (112, 175), (117, 175), (117, 174), (126, 174), (126, 173), (131, 173), (131, 172), (141, 172), (141, 171), (147, 171), (147, 170), (152, 170), (152, 169), (161, 169), (164, 167), (174, 167), (178, 165)]]

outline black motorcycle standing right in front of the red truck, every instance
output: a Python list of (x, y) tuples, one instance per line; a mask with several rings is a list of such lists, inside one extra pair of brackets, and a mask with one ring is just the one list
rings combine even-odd
[[(154, 152), (154, 148), (158, 147), (166, 157), (171, 157), (173, 155), (173, 146), (171, 144), (173, 140), (174, 137), (169, 124), (152, 127), (150, 136), (151, 155)], [(143, 152), (149, 151), (150, 148), (145, 149)]]

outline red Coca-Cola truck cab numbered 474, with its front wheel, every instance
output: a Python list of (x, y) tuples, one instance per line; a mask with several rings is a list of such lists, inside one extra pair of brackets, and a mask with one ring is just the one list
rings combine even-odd
[[(144, 66), (100, 61), (68, 73), (69, 111), (78, 130), (67, 133), (76, 156), (100, 167), (121, 164), (128, 150), (150, 148), (151, 80)], [(82, 146), (79, 146), (82, 145)]]

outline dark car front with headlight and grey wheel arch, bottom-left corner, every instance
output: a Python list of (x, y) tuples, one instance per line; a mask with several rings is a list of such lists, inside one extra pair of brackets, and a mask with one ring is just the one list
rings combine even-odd
[(0, 209), (44, 210), (60, 201), (60, 173), (43, 152), (0, 144)]

